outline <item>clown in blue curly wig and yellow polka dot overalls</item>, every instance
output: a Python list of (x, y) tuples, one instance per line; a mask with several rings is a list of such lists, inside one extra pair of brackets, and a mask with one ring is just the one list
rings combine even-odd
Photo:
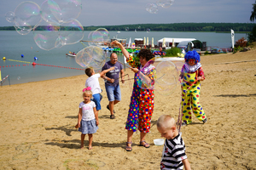
[(201, 81), (205, 79), (201, 68), (200, 55), (196, 51), (189, 51), (185, 55), (185, 64), (183, 65), (180, 77), (182, 84), (182, 111), (183, 124), (188, 125), (191, 121), (191, 112), (195, 114), (198, 120), (205, 123), (207, 116), (199, 104)]

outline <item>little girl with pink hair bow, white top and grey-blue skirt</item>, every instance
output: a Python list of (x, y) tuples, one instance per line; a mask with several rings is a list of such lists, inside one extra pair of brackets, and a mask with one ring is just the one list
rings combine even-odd
[(79, 104), (79, 132), (81, 132), (81, 149), (84, 148), (85, 134), (89, 136), (89, 150), (92, 149), (92, 133), (96, 133), (99, 124), (98, 114), (96, 112), (96, 105), (90, 100), (92, 92), (90, 87), (84, 88), (84, 101)]

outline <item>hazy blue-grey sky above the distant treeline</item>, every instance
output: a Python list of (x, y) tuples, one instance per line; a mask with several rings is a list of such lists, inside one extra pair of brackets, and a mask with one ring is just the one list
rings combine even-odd
[[(30, 0), (41, 6), (44, 0)], [(66, 0), (72, 1), (72, 0)], [(119, 26), (130, 24), (169, 24), (186, 22), (252, 23), (255, 0), (174, 0), (169, 8), (158, 7), (150, 14), (146, 4), (157, 0), (82, 0), (79, 22), (82, 26)], [(0, 0), (0, 26), (13, 26), (5, 19), (22, 0)], [(254, 20), (253, 23), (256, 23)]]

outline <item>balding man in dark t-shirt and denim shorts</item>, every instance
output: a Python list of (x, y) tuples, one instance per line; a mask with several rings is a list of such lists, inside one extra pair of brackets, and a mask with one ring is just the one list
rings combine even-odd
[(125, 82), (125, 72), (123, 65), (118, 61), (118, 56), (115, 53), (110, 54), (110, 60), (105, 63), (102, 67), (102, 71), (107, 70), (111, 67), (115, 67), (113, 71), (108, 71), (102, 78), (105, 80), (105, 88), (108, 95), (109, 104), (107, 105), (110, 111), (110, 119), (114, 119), (113, 105), (116, 105), (121, 100), (121, 90), (119, 87), (119, 75), (121, 76), (121, 82)]

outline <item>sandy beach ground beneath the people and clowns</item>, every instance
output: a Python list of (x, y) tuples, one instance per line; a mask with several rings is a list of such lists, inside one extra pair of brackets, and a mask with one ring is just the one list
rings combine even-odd
[[(256, 50), (201, 56), (206, 80), (201, 105), (208, 117), (202, 124), (192, 116), (182, 137), (192, 169), (256, 169)], [(133, 77), (129, 69), (125, 74)], [(170, 95), (155, 93), (154, 113), (146, 149), (134, 133), (132, 151), (125, 151), (125, 121), (133, 81), (121, 84), (122, 101), (109, 119), (104, 82), (99, 130), (93, 150), (80, 150), (77, 123), (86, 76), (29, 82), (0, 88), (0, 169), (160, 169), (163, 146), (154, 145), (162, 114), (179, 114), (180, 88)]]

